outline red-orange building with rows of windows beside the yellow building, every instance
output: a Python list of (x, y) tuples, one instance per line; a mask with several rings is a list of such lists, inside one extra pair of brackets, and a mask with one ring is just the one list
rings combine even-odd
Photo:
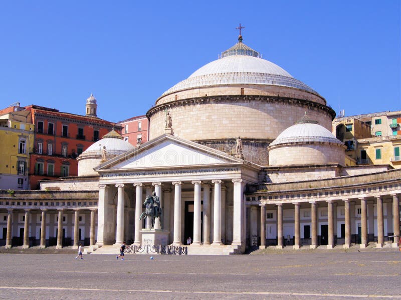
[[(25, 109), (31, 110), (32, 123), (37, 126), (29, 165), (31, 189), (39, 188), (40, 180), (76, 176), (76, 157), (115, 125), (96, 116), (60, 112), (38, 105)], [(115, 129), (121, 130), (121, 127)]]

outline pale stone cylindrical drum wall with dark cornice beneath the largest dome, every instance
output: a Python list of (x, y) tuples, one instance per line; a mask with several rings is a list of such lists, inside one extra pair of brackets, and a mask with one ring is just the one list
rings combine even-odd
[(332, 109), (311, 101), (238, 95), (188, 99), (174, 105), (154, 107), (150, 139), (164, 133), (165, 111), (171, 114), (174, 135), (197, 141), (232, 139), (273, 140), (307, 111), (311, 119), (331, 130)]

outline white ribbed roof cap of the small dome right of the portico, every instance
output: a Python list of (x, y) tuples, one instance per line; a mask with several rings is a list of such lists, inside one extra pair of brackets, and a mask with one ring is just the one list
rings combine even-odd
[(289, 142), (308, 141), (334, 142), (342, 144), (333, 133), (319, 124), (299, 123), (292, 125), (281, 132), (270, 146)]

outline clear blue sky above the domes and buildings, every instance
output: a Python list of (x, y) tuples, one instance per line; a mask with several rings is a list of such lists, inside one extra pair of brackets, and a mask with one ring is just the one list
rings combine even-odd
[(1, 1), (0, 106), (119, 121), (244, 43), (345, 115), (401, 110), (401, 1)]

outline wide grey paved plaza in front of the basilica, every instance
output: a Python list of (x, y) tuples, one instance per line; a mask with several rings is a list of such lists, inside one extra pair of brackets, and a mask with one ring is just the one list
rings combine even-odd
[(251, 255), (0, 254), (3, 299), (401, 299), (395, 249)]

